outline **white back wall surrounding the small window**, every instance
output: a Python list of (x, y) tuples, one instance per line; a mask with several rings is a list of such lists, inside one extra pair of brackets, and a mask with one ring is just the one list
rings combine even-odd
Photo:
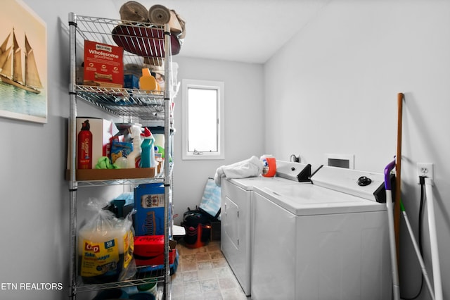
[(221, 165), (262, 155), (264, 146), (263, 68), (259, 64), (212, 61), (174, 56), (179, 64), (178, 79), (223, 81), (225, 84), (225, 159), (181, 160), (182, 91), (175, 99), (174, 213), (175, 223), (183, 220), (187, 208), (200, 204), (208, 177)]

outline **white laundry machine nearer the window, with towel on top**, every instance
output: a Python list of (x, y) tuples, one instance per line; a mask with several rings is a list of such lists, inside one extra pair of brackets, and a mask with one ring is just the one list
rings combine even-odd
[(251, 205), (255, 186), (311, 184), (311, 165), (276, 162), (275, 177), (248, 177), (221, 182), (221, 251), (247, 296), (250, 295)]

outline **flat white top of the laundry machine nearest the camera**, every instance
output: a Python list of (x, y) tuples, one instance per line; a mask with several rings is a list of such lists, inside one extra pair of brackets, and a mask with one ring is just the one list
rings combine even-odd
[(294, 215), (327, 215), (386, 210), (384, 204), (317, 185), (282, 185), (276, 189), (255, 187), (255, 192)]

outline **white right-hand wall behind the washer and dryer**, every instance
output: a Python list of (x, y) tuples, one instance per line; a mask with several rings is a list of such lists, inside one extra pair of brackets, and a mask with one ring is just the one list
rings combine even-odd
[[(449, 1), (330, 1), (264, 67), (265, 132), (273, 137), (265, 150), (284, 159), (300, 153), (313, 166), (327, 153), (354, 154), (356, 169), (383, 173), (397, 151), (397, 94), (405, 94), (402, 201), (417, 237), (416, 163), (434, 163), (443, 282), (450, 277), (449, 13)], [(400, 248), (401, 296), (409, 298), (420, 269), (403, 220)], [(429, 299), (426, 287), (418, 299)]]

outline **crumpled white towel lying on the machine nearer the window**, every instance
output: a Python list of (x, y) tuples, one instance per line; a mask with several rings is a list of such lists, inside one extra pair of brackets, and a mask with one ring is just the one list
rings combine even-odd
[(217, 168), (214, 175), (214, 182), (220, 187), (222, 177), (226, 178), (245, 178), (258, 176), (262, 173), (262, 162), (256, 156), (238, 161), (231, 165), (222, 165)]

